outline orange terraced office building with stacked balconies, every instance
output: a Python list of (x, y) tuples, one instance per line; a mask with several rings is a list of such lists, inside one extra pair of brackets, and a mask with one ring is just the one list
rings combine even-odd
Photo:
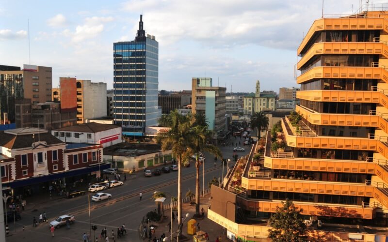
[(304, 219), (323, 222), (313, 223), (308, 241), (388, 240), (380, 233), (388, 225), (387, 6), (376, 11), (382, 6), (314, 21), (297, 51), (301, 120), (283, 118), (276, 145), (268, 132), (262, 157), (240, 159), (224, 189), (212, 187), (211, 220), (242, 241), (266, 238), (269, 227), (258, 221), (289, 198)]

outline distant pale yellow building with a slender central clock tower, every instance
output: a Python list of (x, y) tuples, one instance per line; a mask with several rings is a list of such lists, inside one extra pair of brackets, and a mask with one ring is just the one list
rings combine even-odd
[(256, 81), (256, 92), (244, 97), (244, 114), (253, 115), (261, 111), (275, 111), (276, 96), (273, 91), (260, 92), (260, 81)]

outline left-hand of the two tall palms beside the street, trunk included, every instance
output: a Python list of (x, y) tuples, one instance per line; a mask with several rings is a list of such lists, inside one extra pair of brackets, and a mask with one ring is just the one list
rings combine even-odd
[(156, 136), (157, 141), (162, 146), (162, 151), (171, 150), (172, 156), (178, 160), (178, 225), (181, 224), (182, 217), (182, 161), (193, 153), (187, 149), (191, 145), (192, 136), (192, 116), (183, 116), (178, 110), (171, 111), (166, 117), (170, 129), (162, 129)]

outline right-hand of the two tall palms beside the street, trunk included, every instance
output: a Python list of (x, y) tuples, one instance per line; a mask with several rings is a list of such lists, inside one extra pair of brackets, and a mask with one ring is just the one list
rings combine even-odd
[[(194, 122), (195, 123), (195, 122)], [(222, 160), (222, 153), (220, 149), (214, 145), (209, 145), (206, 143), (208, 137), (210, 137), (210, 131), (207, 126), (193, 126), (192, 128), (194, 140), (190, 147), (191, 150), (195, 152), (195, 216), (199, 217), (199, 152), (207, 151), (210, 154), (220, 157)], [(203, 161), (202, 161), (203, 162)]]

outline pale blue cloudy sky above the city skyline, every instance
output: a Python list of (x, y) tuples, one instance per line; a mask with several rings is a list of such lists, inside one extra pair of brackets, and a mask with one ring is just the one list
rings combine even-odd
[[(296, 50), (314, 20), (355, 13), (366, 0), (0, 0), (0, 64), (52, 67), (113, 88), (113, 43), (144, 29), (159, 42), (159, 90), (212, 77), (233, 92), (297, 86)], [(373, 3), (384, 1), (374, 0)], [(30, 26), (30, 50), (28, 22)]]

